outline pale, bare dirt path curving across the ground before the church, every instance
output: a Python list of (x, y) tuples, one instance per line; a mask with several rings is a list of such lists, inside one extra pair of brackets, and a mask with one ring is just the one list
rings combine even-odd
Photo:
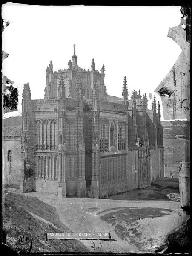
[[(115, 241), (97, 240), (92, 242), (81, 240), (93, 252), (127, 253), (139, 251), (141, 250), (139, 244), (142, 245), (140, 236), (142, 237), (143, 250), (156, 247), (164, 244), (166, 235), (181, 223), (179, 216), (180, 203), (174, 201), (125, 201), (94, 198), (63, 198), (59, 200), (57, 195), (39, 192), (24, 195), (35, 196), (39, 200), (54, 206), (60, 220), (72, 232), (111, 232), (111, 237)], [(161, 208), (158, 211), (159, 215), (156, 214), (155, 216), (153, 212), (149, 212), (154, 209), (157, 212), (158, 208)], [(142, 217), (132, 223), (130, 212), (133, 210), (135, 215), (147, 210), (151, 216), (148, 213), (146, 218)], [(128, 218), (123, 220), (122, 216), (125, 215)], [(112, 220), (114, 218), (116, 222), (111, 221), (110, 218)], [(133, 218), (135, 218), (134, 215)], [(122, 225), (123, 232), (126, 230), (131, 240), (123, 239), (121, 231), (115, 230), (118, 225)], [(129, 233), (129, 230), (134, 228), (137, 230), (138, 236), (132, 236), (132, 233)]]

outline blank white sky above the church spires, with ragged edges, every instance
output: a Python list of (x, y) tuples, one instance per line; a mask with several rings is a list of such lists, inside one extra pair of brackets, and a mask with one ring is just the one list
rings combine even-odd
[(167, 37), (169, 27), (180, 23), (180, 8), (3, 4), (2, 17), (10, 24), (2, 35), (2, 50), (9, 53), (2, 72), (19, 92), (18, 111), (3, 117), (21, 115), (24, 83), (29, 82), (32, 99), (44, 98), (46, 67), (52, 60), (54, 71), (68, 68), (73, 44), (83, 69), (91, 70), (92, 58), (96, 70), (105, 65), (109, 95), (122, 97), (124, 76), (129, 97), (138, 89), (141, 94), (155, 94), (181, 53)]

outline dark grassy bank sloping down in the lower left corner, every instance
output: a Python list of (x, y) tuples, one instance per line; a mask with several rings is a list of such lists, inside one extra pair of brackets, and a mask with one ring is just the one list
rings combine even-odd
[[(70, 232), (59, 218), (54, 207), (37, 198), (26, 197), (11, 192), (3, 193), (3, 229), (6, 230), (6, 244), (11, 248), (26, 253), (33, 238), (31, 252), (86, 252), (87, 248), (78, 240), (48, 240), (46, 233)], [(30, 215), (29, 212), (51, 222), (45, 223)], [(28, 241), (18, 244), (20, 237), (28, 237)]]

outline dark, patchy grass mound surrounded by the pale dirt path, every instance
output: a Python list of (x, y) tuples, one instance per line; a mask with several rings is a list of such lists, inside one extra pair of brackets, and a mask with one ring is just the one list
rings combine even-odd
[[(115, 212), (108, 213), (109, 210), (114, 210)], [(144, 237), (143, 234), (138, 231), (139, 221), (146, 218), (157, 218), (171, 214), (173, 211), (163, 208), (138, 208), (134, 207), (130, 209), (129, 207), (117, 207), (106, 211), (97, 213), (101, 215), (101, 219), (107, 223), (115, 226), (115, 233), (122, 240), (127, 240), (129, 243), (137, 246), (140, 250), (152, 247), (157, 244), (157, 240), (151, 238), (150, 235)], [(106, 212), (106, 214), (104, 214)]]

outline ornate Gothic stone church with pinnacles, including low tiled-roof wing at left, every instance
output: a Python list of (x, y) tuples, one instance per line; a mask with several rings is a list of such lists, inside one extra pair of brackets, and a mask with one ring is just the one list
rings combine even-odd
[(146, 94), (109, 96), (104, 65), (46, 69), (44, 99), (24, 84), (22, 117), (3, 119), (3, 186), (60, 197), (100, 198), (145, 187), (163, 177), (160, 104)]

